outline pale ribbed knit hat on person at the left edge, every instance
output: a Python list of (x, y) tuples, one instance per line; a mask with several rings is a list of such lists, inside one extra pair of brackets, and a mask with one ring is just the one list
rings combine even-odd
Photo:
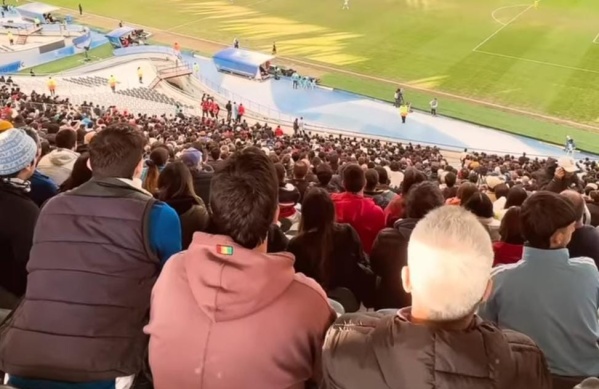
[(0, 176), (10, 176), (25, 169), (35, 160), (37, 145), (20, 129), (0, 133)]

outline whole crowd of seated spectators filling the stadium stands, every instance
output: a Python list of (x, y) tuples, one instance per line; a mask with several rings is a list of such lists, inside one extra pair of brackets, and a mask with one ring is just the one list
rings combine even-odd
[(11, 387), (598, 387), (595, 161), (0, 99)]

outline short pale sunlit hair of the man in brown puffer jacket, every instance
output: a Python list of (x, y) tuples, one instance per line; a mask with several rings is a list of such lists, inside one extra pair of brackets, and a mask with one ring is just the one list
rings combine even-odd
[(417, 225), (408, 245), (412, 299), (431, 320), (473, 313), (493, 265), (489, 233), (462, 207), (443, 206)]

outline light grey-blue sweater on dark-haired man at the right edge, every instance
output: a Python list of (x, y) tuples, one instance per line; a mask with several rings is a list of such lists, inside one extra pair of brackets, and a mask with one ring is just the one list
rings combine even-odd
[(567, 249), (524, 247), (523, 258), (493, 271), (493, 293), (479, 315), (531, 337), (551, 373), (599, 376), (599, 271)]

